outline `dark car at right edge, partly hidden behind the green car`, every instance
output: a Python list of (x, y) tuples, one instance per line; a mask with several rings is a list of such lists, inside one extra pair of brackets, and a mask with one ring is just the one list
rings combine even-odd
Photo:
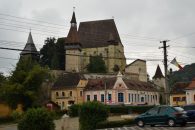
[(195, 104), (194, 105), (185, 105), (183, 106), (184, 110), (187, 112), (189, 122), (195, 122)]

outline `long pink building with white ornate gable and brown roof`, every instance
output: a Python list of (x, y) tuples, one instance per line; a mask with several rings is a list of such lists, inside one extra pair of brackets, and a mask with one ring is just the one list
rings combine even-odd
[(116, 77), (89, 79), (84, 89), (84, 101), (100, 101), (109, 105), (158, 105), (158, 90), (150, 83)]

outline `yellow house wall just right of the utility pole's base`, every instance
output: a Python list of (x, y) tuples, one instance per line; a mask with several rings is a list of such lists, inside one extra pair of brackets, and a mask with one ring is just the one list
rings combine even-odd
[[(170, 95), (170, 105), (172, 105), (172, 106), (186, 105), (186, 100), (181, 101), (183, 97), (186, 97), (186, 94), (172, 94), (172, 95)], [(173, 98), (180, 98), (180, 100), (179, 101), (173, 101)]]

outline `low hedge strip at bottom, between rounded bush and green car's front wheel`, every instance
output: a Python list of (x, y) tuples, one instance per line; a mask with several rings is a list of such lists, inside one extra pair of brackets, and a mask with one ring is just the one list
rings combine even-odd
[(96, 125), (96, 129), (123, 127), (134, 124), (134, 120), (103, 121)]

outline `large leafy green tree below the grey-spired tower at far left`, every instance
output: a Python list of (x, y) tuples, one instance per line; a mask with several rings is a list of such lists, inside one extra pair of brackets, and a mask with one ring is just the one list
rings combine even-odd
[(22, 58), (9, 77), (9, 81), (1, 88), (0, 96), (13, 109), (18, 104), (22, 104), (24, 109), (37, 105), (39, 89), (47, 77), (47, 68), (40, 67), (30, 57)]

